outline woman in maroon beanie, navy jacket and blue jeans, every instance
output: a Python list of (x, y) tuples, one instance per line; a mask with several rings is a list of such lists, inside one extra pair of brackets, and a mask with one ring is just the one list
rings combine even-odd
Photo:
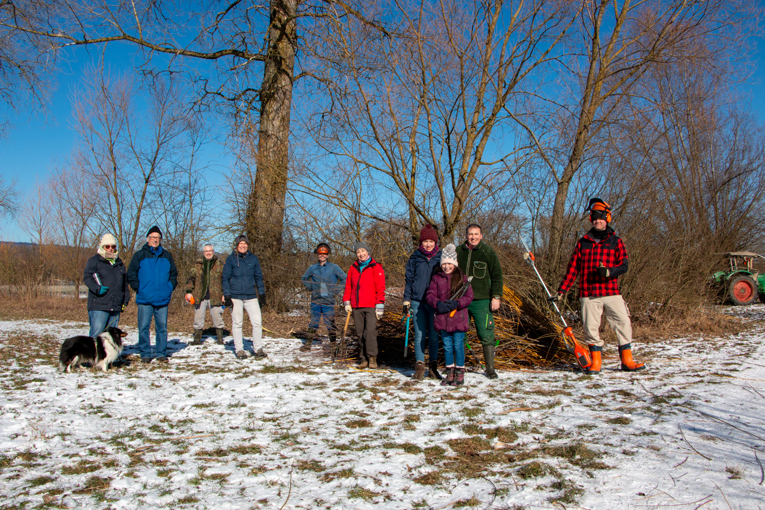
[(438, 233), (431, 225), (420, 231), (420, 246), (406, 262), (404, 279), (404, 317), (412, 314), (415, 330), (415, 375), (425, 377), (425, 347), (428, 347), (430, 372), (428, 377), (441, 380), (438, 373), (438, 333), (433, 327), (435, 310), (425, 302), (425, 292), (433, 271), (441, 265), (441, 248), (438, 247)]

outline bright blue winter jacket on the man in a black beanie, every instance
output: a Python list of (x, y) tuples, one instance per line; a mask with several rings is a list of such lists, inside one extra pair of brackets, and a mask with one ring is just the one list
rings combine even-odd
[(135, 291), (135, 303), (164, 307), (178, 284), (178, 270), (173, 255), (158, 246), (146, 243), (130, 259), (128, 283)]

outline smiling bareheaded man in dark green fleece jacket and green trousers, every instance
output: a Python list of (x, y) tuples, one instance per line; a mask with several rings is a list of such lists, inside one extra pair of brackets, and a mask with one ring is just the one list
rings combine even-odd
[(473, 277), (473, 302), (467, 312), (473, 318), (476, 332), (483, 346), (483, 360), (486, 362), (486, 375), (490, 379), (499, 378), (494, 372), (494, 316), (492, 312), (500, 309), (502, 296), (502, 268), (500, 258), (489, 245), (483, 242), (480, 225), (471, 223), (465, 229), (466, 241), (457, 247), (457, 262), (464, 274)]

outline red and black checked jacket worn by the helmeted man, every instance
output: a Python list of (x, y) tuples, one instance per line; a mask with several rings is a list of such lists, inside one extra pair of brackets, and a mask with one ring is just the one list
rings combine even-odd
[[(605, 278), (597, 275), (597, 266), (601, 265), (601, 261), (609, 269), (609, 275)], [(576, 243), (558, 292), (567, 292), (577, 274), (580, 274), (579, 297), (616, 296), (619, 294), (617, 277), (627, 272), (628, 263), (627, 248), (613, 229), (607, 227), (607, 234), (601, 242), (594, 242), (590, 232), (587, 232)]]

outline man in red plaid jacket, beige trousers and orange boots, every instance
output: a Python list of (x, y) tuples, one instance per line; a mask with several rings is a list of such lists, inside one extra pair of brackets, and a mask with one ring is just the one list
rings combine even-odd
[(590, 222), (592, 228), (576, 243), (571, 261), (568, 262), (565, 277), (558, 294), (551, 299), (562, 300), (579, 275), (579, 303), (584, 338), (590, 347), (592, 365), (590, 374), (601, 373), (601, 350), (603, 340), (598, 329), (601, 316), (606, 320), (619, 339), (619, 354), (624, 372), (643, 370), (646, 365), (632, 359), (632, 323), (630, 310), (619, 294), (617, 278), (627, 272), (629, 258), (624, 243), (608, 226), (611, 221), (610, 206), (599, 198), (590, 200)]

